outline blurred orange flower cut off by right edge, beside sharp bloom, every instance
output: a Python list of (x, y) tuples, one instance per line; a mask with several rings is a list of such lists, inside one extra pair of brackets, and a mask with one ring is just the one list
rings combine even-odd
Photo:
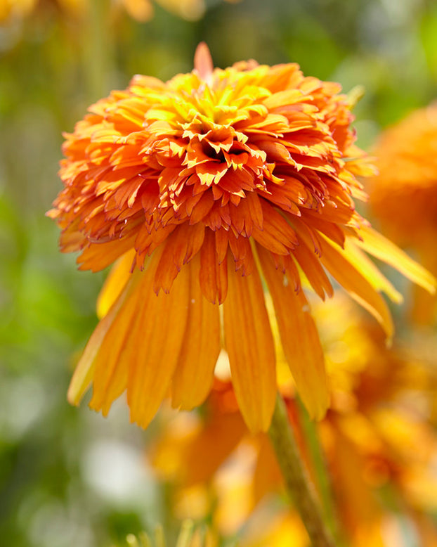
[[(382, 134), (370, 205), (396, 243), (417, 250), (437, 274), (437, 104), (416, 110)], [(417, 293), (415, 316), (433, 321), (436, 299)]]

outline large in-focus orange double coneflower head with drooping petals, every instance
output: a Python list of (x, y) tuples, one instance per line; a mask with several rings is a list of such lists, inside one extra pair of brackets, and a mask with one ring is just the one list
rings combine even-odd
[(330, 274), (388, 337), (380, 291), (400, 295), (363, 251), (434, 290), (355, 210), (365, 198), (356, 176), (372, 168), (339, 91), (294, 63), (213, 69), (200, 44), (193, 72), (136, 76), (65, 135), (65, 187), (48, 213), (61, 249), (80, 251), (81, 269), (117, 261), (72, 403), (92, 384), (90, 405), (106, 414), (126, 391), (131, 420), (145, 427), (167, 394), (176, 408), (204, 401), (224, 346), (244, 420), (266, 430), (276, 378), (264, 281), (297, 390), (321, 418), (329, 394), (302, 284), (324, 299)]

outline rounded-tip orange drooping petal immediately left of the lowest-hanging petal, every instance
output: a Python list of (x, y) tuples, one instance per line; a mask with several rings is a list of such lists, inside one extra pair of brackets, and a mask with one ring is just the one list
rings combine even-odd
[(221, 349), (220, 316), (218, 305), (208, 302), (202, 294), (200, 258), (195, 257), (185, 268), (190, 278), (188, 320), (171, 393), (174, 407), (190, 410), (202, 404), (211, 390)]

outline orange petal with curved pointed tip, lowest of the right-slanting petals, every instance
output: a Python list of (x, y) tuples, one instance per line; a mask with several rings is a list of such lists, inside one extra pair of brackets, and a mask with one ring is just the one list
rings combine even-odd
[(393, 336), (393, 319), (384, 298), (346, 259), (343, 250), (339, 249), (335, 243), (331, 243), (328, 239), (321, 239), (320, 243), (322, 264), (349, 295), (379, 321), (390, 341)]

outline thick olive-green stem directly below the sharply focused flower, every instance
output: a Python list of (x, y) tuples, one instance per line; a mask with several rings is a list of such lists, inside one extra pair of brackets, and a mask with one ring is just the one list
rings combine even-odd
[(301, 459), (287, 408), (280, 394), (276, 396), (268, 434), (285, 480), (285, 487), (294, 500), (313, 547), (334, 547), (334, 540), (323, 522), (320, 503)]

